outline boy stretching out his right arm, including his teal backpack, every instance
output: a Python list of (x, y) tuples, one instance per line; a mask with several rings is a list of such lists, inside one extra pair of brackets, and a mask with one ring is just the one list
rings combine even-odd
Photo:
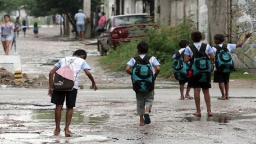
[(218, 100), (229, 100), (229, 75), (234, 70), (234, 62), (232, 60), (231, 51), (242, 46), (246, 40), (252, 36), (252, 33), (245, 34), (244, 40), (238, 44), (223, 44), (225, 37), (217, 34), (213, 37), (214, 43), (212, 47), (215, 53), (214, 83), (219, 83), (221, 97)]

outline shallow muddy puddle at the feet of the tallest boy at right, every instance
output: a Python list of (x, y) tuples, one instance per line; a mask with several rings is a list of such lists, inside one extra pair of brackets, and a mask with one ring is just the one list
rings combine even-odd
[(254, 114), (228, 114), (228, 115), (213, 115), (212, 117), (204, 116), (201, 117), (197, 116), (190, 116), (185, 117), (185, 122), (193, 122), (193, 121), (212, 121), (217, 123), (229, 123), (234, 120), (246, 120), (246, 119), (254, 119), (256, 118), (256, 113)]

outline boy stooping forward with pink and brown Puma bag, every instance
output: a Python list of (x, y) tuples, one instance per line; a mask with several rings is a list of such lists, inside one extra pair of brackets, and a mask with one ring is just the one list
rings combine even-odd
[[(96, 91), (98, 87), (95, 84), (92, 74), (89, 72), (91, 68), (86, 63), (86, 52), (84, 50), (76, 50), (71, 57), (65, 57), (54, 65), (49, 74), (49, 92), (51, 103), (56, 104), (55, 107), (55, 123), (56, 128), (54, 135), (60, 134), (61, 110), (64, 100), (66, 99), (66, 125), (64, 128), (65, 136), (71, 136), (73, 133), (69, 131), (69, 125), (73, 114), (73, 108), (76, 106), (76, 95), (78, 89), (78, 76), (80, 69), (92, 81), (92, 87)], [(54, 81), (53, 81), (53, 75)]]

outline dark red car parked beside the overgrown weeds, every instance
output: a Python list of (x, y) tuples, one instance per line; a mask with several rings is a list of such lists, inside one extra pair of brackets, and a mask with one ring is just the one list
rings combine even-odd
[(106, 55), (110, 48), (116, 48), (120, 42), (129, 42), (138, 37), (145, 38), (145, 31), (156, 24), (145, 13), (127, 14), (110, 17), (104, 29), (98, 30), (98, 51)]

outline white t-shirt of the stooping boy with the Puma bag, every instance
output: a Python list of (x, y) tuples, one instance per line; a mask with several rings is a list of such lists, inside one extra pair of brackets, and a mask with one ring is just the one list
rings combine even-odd
[[(70, 64), (71, 63), (71, 64)], [(73, 73), (74, 73), (74, 88), (78, 89), (78, 76), (79, 76), (79, 71), (80, 69), (88, 69), (91, 70), (89, 65), (86, 63), (84, 59), (78, 58), (78, 57), (65, 57), (61, 59), (59, 62), (57, 62), (54, 66), (57, 68), (62, 68), (66, 65), (70, 64), (70, 68), (72, 68)]]

